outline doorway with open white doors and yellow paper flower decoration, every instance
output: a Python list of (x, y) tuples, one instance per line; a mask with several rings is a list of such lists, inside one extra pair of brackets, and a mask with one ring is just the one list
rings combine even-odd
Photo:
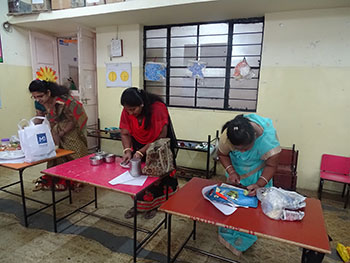
[[(87, 127), (98, 127), (98, 100), (96, 75), (96, 36), (90, 30), (79, 28), (77, 35), (52, 36), (30, 32), (33, 78), (45, 72), (48, 81), (57, 81), (71, 90), (88, 116)], [(49, 72), (49, 74), (46, 74)], [(88, 148), (94, 151), (97, 139), (88, 137)]]

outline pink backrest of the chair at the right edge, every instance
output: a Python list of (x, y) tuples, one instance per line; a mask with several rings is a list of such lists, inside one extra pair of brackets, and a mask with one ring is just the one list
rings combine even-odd
[(320, 170), (336, 174), (349, 175), (350, 158), (339, 155), (323, 154)]

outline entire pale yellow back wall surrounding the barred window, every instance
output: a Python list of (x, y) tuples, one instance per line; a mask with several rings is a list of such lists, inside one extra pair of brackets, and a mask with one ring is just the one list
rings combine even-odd
[[(270, 117), (278, 130), (281, 145), (296, 144), (299, 150), (298, 187), (316, 189), (322, 153), (349, 156), (350, 118), (348, 118), (350, 89), (350, 9), (312, 10), (266, 14), (264, 48), (257, 113)], [(179, 21), (180, 22), (180, 21)], [(133, 85), (142, 76), (142, 27), (120, 37), (125, 51), (123, 59), (115, 62), (133, 63)], [(122, 27), (118, 29), (121, 34)], [(98, 44), (110, 41), (109, 35), (97, 34)], [(108, 38), (108, 41), (107, 39)], [(139, 47), (135, 47), (139, 41)], [(105, 47), (99, 46), (105, 56)], [(129, 53), (132, 52), (132, 53)], [(137, 56), (127, 59), (129, 55)], [(126, 56), (126, 57), (125, 57)], [(105, 58), (107, 60), (107, 58)], [(105, 87), (105, 67), (99, 63), (99, 115), (102, 127), (118, 126), (122, 88)], [(135, 73), (135, 74), (134, 74)], [(206, 140), (215, 131), (240, 112), (169, 109), (178, 138)], [(105, 142), (104, 147), (115, 150), (120, 145)], [(118, 150), (117, 150), (118, 151)], [(119, 150), (120, 153), (120, 150)], [(183, 151), (179, 164), (205, 167), (201, 153)], [(222, 169), (219, 170), (222, 173)], [(337, 186), (333, 186), (337, 188)]]

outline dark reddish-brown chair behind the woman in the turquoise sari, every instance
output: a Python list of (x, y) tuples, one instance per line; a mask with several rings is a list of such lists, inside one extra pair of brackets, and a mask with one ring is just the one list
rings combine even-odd
[(299, 151), (295, 149), (295, 144), (291, 148), (282, 147), (277, 170), (273, 177), (275, 187), (296, 190), (298, 155)]

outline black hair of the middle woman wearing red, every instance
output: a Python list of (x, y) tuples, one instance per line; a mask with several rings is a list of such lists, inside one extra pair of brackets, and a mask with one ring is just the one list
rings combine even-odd
[(120, 98), (120, 103), (123, 106), (137, 107), (143, 105), (141, 114), (145, 116), (145, 129), (148, 129), (150, 125), (151, 105), (156, 101), (164, 103), (159, 96), (135, 87), (124, 90)]

